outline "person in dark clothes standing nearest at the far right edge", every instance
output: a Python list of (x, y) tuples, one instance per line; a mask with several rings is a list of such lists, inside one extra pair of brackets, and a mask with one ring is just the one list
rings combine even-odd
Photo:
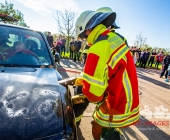
[[(162, 77), (162, 76), (164, 76), (164, 74), (165, 74), (165, 78), (167, 78), (167, 76), (168, 76), (168, 71), (167, 71), (167, 69), (168, 69), (168, 65), (170, 64), (170, 55), (169, 54), (167, 54), (165, 57), (164, 57), (164, 59), (163, 59), (163, 68), (162, 68), (162, 71), (161, 71), (161, 73), (160, 73), (160, 78)], [(166, 73), (165, 73), (165, 71), (166, 71)]]

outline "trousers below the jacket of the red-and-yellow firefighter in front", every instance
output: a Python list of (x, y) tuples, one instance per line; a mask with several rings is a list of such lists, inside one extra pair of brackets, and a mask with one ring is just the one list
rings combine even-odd
[(120, 133), (115, 128), (102, 127), (95, 120), (92, 122), (92, 134), (95, 140), (120, 140)]

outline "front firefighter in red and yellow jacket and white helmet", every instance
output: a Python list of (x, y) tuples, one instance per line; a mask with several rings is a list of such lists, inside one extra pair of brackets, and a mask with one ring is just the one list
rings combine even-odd
[(122, 128), (139, 120), (139, 91), (136, 68), (126, 43), (108, 30), (115, 12), (84, 11), (76, 21), (76, 35), (91, 44), (83, 71), (83, 93), (96, 104), (92, 134)]

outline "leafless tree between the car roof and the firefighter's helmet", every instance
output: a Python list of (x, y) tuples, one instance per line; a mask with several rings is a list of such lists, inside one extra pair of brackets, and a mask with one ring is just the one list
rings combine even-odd
[(68, 50), (69, 41), (71, 37), (75, 35), (74, 21), (76, 18), (76, 13), (68, 10), (65, 10), (63, 13), (57, 10), (54, 18), (57, 21), (57, 26), (60, 34), (66, 37)]

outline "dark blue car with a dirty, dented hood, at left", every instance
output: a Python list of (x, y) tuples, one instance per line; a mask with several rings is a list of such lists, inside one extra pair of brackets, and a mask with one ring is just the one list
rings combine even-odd
[(77, 139), (58, 74), (43, 33), (0, 23), (0, 140)]

